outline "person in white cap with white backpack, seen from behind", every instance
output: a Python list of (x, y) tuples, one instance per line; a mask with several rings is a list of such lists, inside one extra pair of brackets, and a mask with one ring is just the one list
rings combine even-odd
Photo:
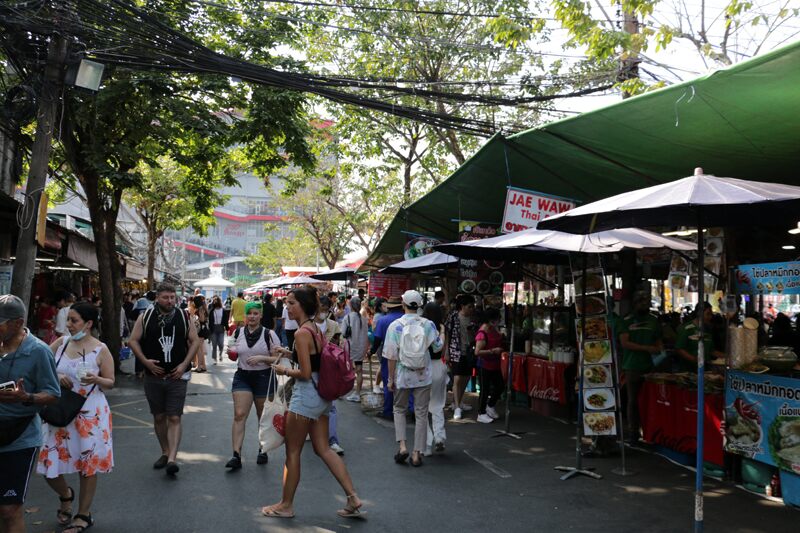
[(389, 360), (388, 388), (394, 392), (394, 433), (399, 445), (394, 460), (400, 464), (408, 459), (406, 410), (413, 392), (416, 421), (411, 465), (422, 466), (432, 382), (428, 350), (441, 352), (443, 343), (436, 325), (417, 313), (422, 308), (422, 295), (409, 290), (403, 293), (402, 301), (404, 314), (389, 325), (383, 346), (383, 356)]

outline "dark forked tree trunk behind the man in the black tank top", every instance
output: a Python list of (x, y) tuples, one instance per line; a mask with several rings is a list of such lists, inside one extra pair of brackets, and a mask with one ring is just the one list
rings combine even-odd
[(119, 352), (122, 348), (119, 323), (122, 308), (122, 268), (117, 258), (116, 227), (122, 191), (114, 192), (111, 206), (106, 207), (98, 189), (96, 176), (80, 176), (86, 193), (86, 203), (92, 220), (98, 274), (100, 276), (100, 299), (102, 300), (102, 341), (114, 358), (114, 369), (119, 371)]

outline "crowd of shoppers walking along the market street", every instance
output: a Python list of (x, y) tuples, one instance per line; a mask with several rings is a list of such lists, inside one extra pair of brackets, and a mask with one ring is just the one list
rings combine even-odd
[[(0, 468), (8, 472), (0, 480), (0, 521), (9, 532), (24, 531), (22, 503), (34, 470), (56, 493), (55, 519), (63, 531), (92, 527), (97, 475), (114, 466), (111, 410), (105, 398), (115, 385), (114, 360), (99, 340), (98, 302), (76, 302), (65, 292), (52, 304), (37, 302), (35, 312), (29, 313), (18, 298), (0, 297), (0, 379), (9, 382), (0, 391)], [(122, 317), (120, 333), (136, 358), (160, 449), (153, 468), (164, 469), (168, 476), (180, 472), (188, 383), (192, 372), (208, 371), (209, 352), (214, 365), (223, 358), (236, 363), (231, 382), (232, 454), (225, 464), (231, 471), (243, 466), (252, 407), (260, 419), (265, 402), (279, 388), (279, 376), (292, 378), (283, 494), (279, 502), (262, 509), (268, 517), (294, 516), (306, 440), (344, 490), (346, 504), (338, 514), (364, 514), (341, 459), (336, 402), (323, 399), (316, 386), (326, 343), (346, 343), (356, 371), (354, 387), (342, 400), (360, 402), (365, 393), (384, 394), (382, 414), (395, 424), (398, 463), (421, 466), (424, 456), (445, 451), (444, 410), (451, 376), (456, 420), (471, 410), (464, 394), (476, 366), (482, 383), (477, 419), (488, 423), (498, 417), (494, 406), (502, 391), (499, 364), (504, 343), (498, 330), (500, 313), (488, 309), (478, 318), (469, 296), (460, 296), (448, 308), (441, 292), (426, 304), (416, 291), (370, 300), (363, 291), (318, 295), (316, 289), (303, 287), (282, 299), (267, 294), (248, 300), (239, 293), (225, 301), (213, 296), (207, 302), (201, 294), (179, 299), (174, 287), (160, 284), (141, 296), (126, 297)], [(381, 371), (369, 391), (364, 362), (374, 356)], [(47, 410), (61, 409), (68, 395), (80, 399), (80, 409), (63, 425), (51, 422)], [(415, 430), (413, 441), (407, 442), (409, 411), (415, 415)], [(260, 447), (255, 456), (256, 464), (269, 461)], [(76, 473), (78, 491), (65, 477)]]

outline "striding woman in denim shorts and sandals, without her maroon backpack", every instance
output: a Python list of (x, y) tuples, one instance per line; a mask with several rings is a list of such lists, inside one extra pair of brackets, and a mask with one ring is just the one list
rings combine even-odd
[(276, 365), (275, 372), (295, 379), (289, 413), (286, 415), (286, 465), (283, 469), (283, 494), (281, 501), (263, 507), (264, 516), (291, 518), (294, 516), (294, 496), (300, 482), (300, 457), (306, 435), (311, 436), (314, 453), (323, 460), (339, 482), (347, 498), (343, 509), (337, 511), (345, 518), (358, 517), (361, 499), (358, 497), (342, 458), (328, 446), (328, 411), (330, 402), (317, 393), (323, 337), (311, 317), (319, 312), (319, 299), (313, 287), (302, 287), (289, 292), (286, 297), (289, 317), (297, 321), (292, 360), (298, 368)]

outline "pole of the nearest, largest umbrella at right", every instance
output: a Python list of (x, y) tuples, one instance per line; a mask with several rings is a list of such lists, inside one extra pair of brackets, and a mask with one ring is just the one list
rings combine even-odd
[[(698, 217), (699, 218), (699, 217)], [(705, 242), (703, 225), (697, 223), (697, 305), (700, 338), (697, 342), (697, 454), (695, 464), (694, 531), (703, 531), (703, 426), (705, 418)]]

